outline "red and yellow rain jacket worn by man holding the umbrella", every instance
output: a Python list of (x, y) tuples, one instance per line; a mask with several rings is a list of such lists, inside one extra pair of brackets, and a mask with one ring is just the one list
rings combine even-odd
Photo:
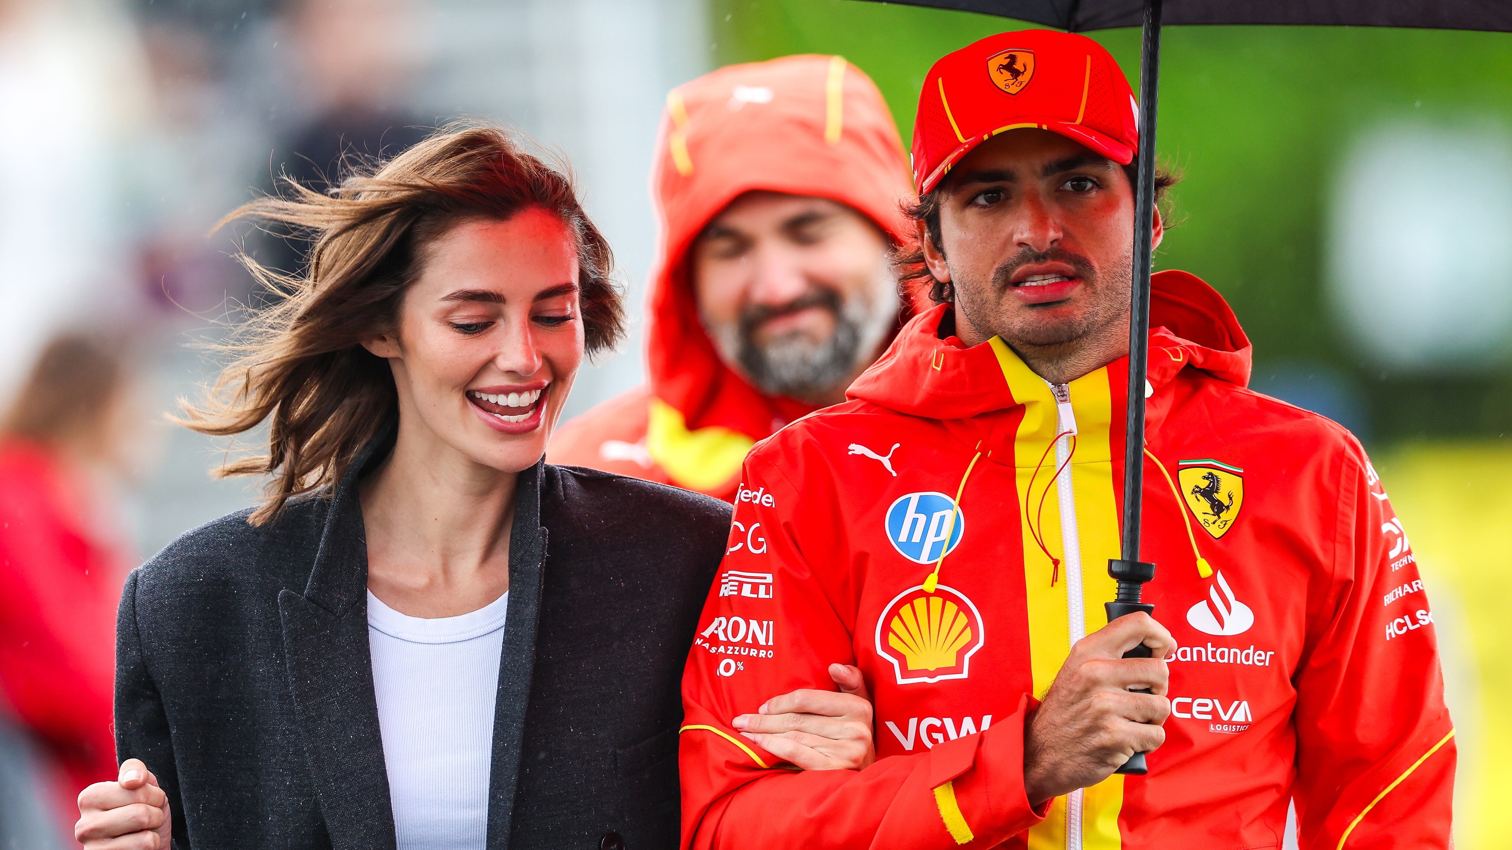
[[(1279, 847), (1293, 797), (1303, 847), (1447, 847), (1455, 732), (1406, 532), (1347, 431), (1244, 389), (1249, 340), (1185, 272), (1155, 275), (1149, 352), (1167, 740), (1148, 776), (1030, 808), (1025, 714), (1113, 599), (1128, 366), (1051, 387), (998, 339), (940, 339), (947, 316), (745, 461), (683, 679), (683, 847)], [(798, 771), (730, 727), (833, 690), (830, 662), (865, 673), (871, 767)]]

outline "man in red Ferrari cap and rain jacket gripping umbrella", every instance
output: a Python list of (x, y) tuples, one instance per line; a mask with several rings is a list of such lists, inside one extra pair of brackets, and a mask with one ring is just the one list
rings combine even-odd
[[(1402, 523), (1347, 431), (1244, 389), (1244, 331), (1185, 272), (1152, 281), (1164, 626), (1102, 625), (1136, 110), (1067, 33), (925, 77), (915, 274), (940, 304), (745, 461), (683, 681), (685, 847), (1279, 847), (1293, 800), (1303, 847), (1448, 845), (1453, 726)], [(1122, 658), (1140, 643), (1154, 659)], [(878, 761), (788, 770), (806, 696), (768, 694), (832, 691), (833, 661), (862, 670)], [(1148, 776), (1113, 773), (1140, 750)]]

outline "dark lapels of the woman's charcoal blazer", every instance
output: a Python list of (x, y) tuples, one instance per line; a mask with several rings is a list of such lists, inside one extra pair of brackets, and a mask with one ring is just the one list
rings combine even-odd
[[(357, 482), (393, 448), (390, 423), (330, 495), (304, 594), (278, 594), (295, 717), (333, 850), (395, 850), (393, 808), (367, 643), (367, 543)], [(540, 616), (544, 460), (520, 473), (510, 608), (494, 709), (488, 847), (507, 847)]]

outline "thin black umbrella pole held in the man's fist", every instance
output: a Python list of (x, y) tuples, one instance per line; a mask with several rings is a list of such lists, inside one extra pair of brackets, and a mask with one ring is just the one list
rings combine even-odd
[[(1155, 564), (1139, 560), (1140, 508), (1145, 492), (1145, 383), (1149, 355), (1149, 266), (1155, 225), (1155, 109), (1160, 98), (1160, 14), (1161, 0), (1145, 0), (1145, 39), (1140, 51), (1139, 82), (1139, 181), (1134, 188), (1134, 284), (1129, 287), (1129, 398), (1125, 419), (1123, 451), (1123, 551), (1108, 561), (1108, 575), (1117, 581), (1117, 597), (1105, 603), (1108, 620), (1136, 611), (1154, 613), (1142, 602), (1142, 585), (1155, 578)], [(1149, 658), (1148, 646), (1137, 646), (1125, 658)], [(1149, 693), (1149, 691), (1145, 691)], [(1117, 770), (1145, 774), (1145, 753), (1134, 753)]]

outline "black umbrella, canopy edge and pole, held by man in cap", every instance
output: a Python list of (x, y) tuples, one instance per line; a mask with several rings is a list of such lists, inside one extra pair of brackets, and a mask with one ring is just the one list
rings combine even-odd
[[(1123, 551), (1108, 563), (1117, 599), (1108, 619), (1151, 613), (1140, 587), (1155, 564), (1140, 561), (1140, 511), (1145, 487), (1145, 366), (1149, 351), (1149, 260), (1155, 216), (1155, 110), (1160, 95), (1161, 24), (1311, 24), (1512, 32), (1507, 0), (881, 0), (1033, 21), (1067, 32), (1145, 27), (1139, 82), (1139, 166), (1134, 189), (1134, 287), (1129, 298), (1129, 410), (1123, 455)], [(1140, 652), (1143, 650), (1143, 652)], [(1128, 656), (1148, 656), (1137, 647)], [(1145, 753), (1119, 773), (1145, 773)]]

